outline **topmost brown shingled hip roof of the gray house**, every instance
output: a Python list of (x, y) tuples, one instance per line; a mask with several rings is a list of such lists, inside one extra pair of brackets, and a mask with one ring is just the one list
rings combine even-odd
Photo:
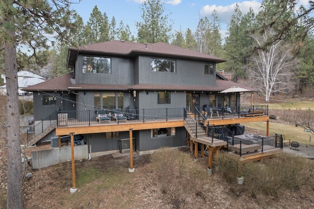
[(75, 66), (75, 61), (78, 53), (94, 53), (94, 54), (108, 54), (108, 55), (120, 55), (120, 56), (135, 56), (138, 54), (145, 55), (161, 55), (161, 56), (172, 56), (180, 58), (189, 58), (196, 60), (207, 60), (210, 62), (220, 63), (226, 62), (227, 60), (218, 58), (216, 56), (208, 55), (193, 50), (184, 49), (171, 44), (158, 42), (155, 44), (142, 44), (125, 41), (106, 41), (95, 44), (89, 44), (78, 48), (70, 48), (68, 52), (68, 63), (69, 68)]

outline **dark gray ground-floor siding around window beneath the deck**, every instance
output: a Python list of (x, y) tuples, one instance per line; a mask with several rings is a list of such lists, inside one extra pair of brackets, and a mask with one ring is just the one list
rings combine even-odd
[(140, 131), (139, 151), (156, 150), (161, 147), (180, 147), (185, 145), (186, 131), (176, 128), (176, 136), (151, 138), (151, 130)]

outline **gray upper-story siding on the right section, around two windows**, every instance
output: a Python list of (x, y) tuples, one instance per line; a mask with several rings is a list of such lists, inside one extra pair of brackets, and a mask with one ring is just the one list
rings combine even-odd
[[(164, 57), (162, 57), (164, 58)], [(139, 56), (139, 83), (208, 85), (216, 84), (215, 76), (204, 75), (204, 62), (177, 59), (177, 72), (151, 72), (151, 57)]]

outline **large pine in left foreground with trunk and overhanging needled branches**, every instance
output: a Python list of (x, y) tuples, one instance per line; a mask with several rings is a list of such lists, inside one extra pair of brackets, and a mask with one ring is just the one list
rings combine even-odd
[[(45, 51), (48, 43), (69, 40), (79, 26), (72, 10), (71, 0), (1, 0), (0, 1), (0, 49), (4, 49), (7, 87), (7, 208), (22, 209), (22, 165), (19, 97), (17, 79), (17, 47), (28, 47), (37, 56)], [(36, 60), (36, 59), (35, 59)]]

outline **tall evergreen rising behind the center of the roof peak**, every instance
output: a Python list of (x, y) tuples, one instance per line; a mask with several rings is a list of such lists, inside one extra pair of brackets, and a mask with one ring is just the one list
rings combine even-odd
[[(136, 22), (137, 42), (139, 43), (168, 43), (172, 25), (168, 15), (164, 13), (162, 0), (147, 0), (142, 3), (142, 22)], [(170, 13), (171, 14), (171, 13)]]

